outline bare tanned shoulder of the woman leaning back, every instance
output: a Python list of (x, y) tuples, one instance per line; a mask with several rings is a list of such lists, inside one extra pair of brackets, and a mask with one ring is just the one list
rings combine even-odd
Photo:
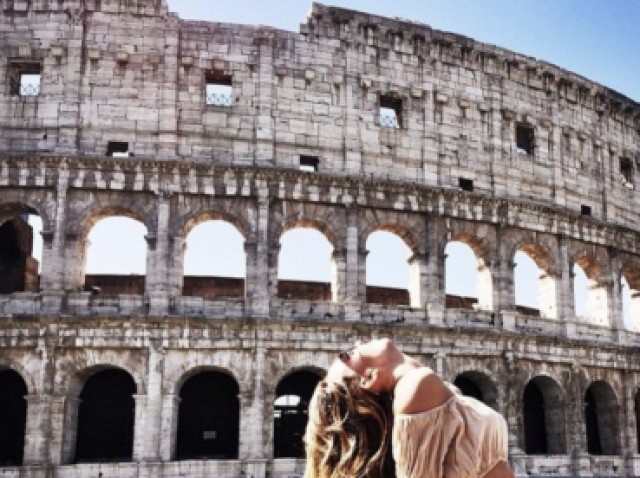
[(453, 392), (428, 367), (410, 370), (396, 384), (393, 411), (396, 414), (416, 414), (439, 407)]

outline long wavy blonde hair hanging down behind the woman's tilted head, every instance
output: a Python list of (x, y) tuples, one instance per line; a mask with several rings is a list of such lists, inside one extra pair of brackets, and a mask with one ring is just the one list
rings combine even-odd
[(318, 384), (309, 404), (304, 478), (394, 478), (391, 400), (356, 378)]

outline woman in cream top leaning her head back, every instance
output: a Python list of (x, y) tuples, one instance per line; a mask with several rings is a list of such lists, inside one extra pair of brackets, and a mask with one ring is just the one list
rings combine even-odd
[(389, 339), (339, 355), (311, 400), (305, 444), (305, 478), (513, 478), (502, 416)]

